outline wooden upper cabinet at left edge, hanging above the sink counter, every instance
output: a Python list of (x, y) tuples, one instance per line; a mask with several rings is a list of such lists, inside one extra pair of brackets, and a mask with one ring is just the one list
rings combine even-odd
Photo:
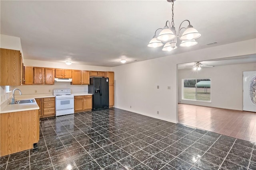
[(22, 84), (20, 51), (11, 49), (0, 49), (0, 51), (0, 85), (19, 86)]

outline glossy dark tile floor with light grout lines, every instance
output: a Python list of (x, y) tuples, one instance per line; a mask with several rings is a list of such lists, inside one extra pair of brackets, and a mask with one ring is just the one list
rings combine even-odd
[(255, 170), (256, 144), (121, 109), (40, 122), (35, 149), (0, 170)]

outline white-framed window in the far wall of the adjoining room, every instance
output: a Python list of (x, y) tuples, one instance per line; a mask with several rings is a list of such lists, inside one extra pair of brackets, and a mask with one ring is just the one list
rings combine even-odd
[(182, 79), (182, 100), (211, 101), (211, 79)]

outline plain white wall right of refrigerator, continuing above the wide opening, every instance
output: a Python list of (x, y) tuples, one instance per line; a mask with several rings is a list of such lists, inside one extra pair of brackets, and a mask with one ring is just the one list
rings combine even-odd
[[(177, 64), (255, 53), (256, 39), (250, 39), (113, 67), (115, 107), (177, 122)], [(160, 89), (156, 89), (157, 85)], [(167, 90), (167, 86), (171, 89)]]

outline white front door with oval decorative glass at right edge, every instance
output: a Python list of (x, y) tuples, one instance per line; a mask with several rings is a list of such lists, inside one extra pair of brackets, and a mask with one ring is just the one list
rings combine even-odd
[(256, 112), (256, 71), (244, 71), (243, 77), (243, 110)]

